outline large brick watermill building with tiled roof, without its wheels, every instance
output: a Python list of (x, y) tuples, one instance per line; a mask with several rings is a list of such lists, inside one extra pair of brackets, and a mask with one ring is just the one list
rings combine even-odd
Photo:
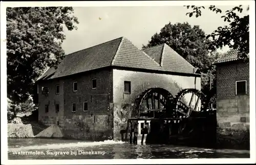
[(36, 84), (40, 122), (65, 136), (119, 138), (141, 93), (201, 90), (201, 74), (166, 44), (142, 51), (121, 37), (66, 55)]

